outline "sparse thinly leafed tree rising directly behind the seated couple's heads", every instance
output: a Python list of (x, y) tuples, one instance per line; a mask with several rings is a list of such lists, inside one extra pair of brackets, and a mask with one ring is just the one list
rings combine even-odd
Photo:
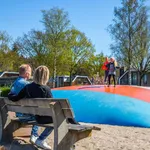
[(45, 33), (31, 30), (28, 34), (17, 39), (19, 54), (27, 58), (33, 68), (43, 64), (49, 66), (49, 53), (47, 49)]

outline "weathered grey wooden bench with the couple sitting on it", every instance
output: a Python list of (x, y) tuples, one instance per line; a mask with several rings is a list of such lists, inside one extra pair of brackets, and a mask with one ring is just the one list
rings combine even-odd
[[(93, 126), (80, 125), (74, 119), (73, 110), (67, 99), (22, 99), (12, 102), (0, 98), (0, 142), (12, 138), (13, 132), (25, 124), (54, 128), (54, 150), (70, 150), (75, 142), (91, 136)], [(21, 112), (40, 116), (51, 116), (53, 123), (38, 124), (35, 121), (20, 122), (17, 118), (10, 119), (8, 111)]]

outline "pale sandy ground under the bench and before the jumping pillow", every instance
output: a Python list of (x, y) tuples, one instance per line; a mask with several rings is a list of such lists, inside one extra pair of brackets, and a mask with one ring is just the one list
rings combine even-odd
[[(91, 125), (91, 124), (90, 124)], [(96, 125), (101, 131), (76, 143), (75, 150), (150, 150), (150, 129)], [(52, 145), (53, 133), (47, 142)], [(24, 141), (25, 140), (25, 141)], [(7, 150), (37, 150), (28, 139), (14, 140), (5, 145)]]

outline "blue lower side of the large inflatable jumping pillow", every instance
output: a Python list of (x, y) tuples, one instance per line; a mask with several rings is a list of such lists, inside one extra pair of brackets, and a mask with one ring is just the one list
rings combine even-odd
[(150, 127), (150, 104), (136, 98), (90, 90), (52, 90), (67, 98), (78, 122)]

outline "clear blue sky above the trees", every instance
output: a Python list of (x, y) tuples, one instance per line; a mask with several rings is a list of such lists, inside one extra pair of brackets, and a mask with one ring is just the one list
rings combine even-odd
[(72, 25), (92, 40), (96, 52), (109, 55), (112, 41), (107, 27), (114, 17), (114, 7), (120, 3), (121, 0), (0, 0), (0, 30), (6, 30), (15, 40), (33, 28), (43, 29), (41, 10), (64, 8)]

